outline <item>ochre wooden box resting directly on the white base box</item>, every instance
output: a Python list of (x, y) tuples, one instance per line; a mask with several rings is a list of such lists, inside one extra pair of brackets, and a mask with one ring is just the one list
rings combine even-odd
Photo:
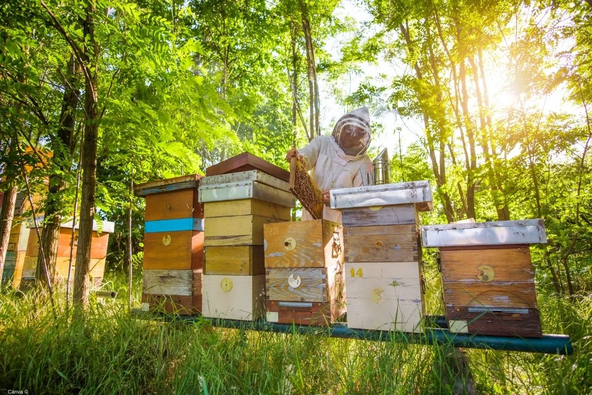
[(211, 246), (205, 248), (204, 274), (265, 274), (262, 246)]

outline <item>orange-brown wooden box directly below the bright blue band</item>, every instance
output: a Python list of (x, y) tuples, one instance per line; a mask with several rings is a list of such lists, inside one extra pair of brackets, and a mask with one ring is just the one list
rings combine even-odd
[[(165, 245), (165, 243), (168, 243)], [(144, 269), (201, 269), (204, 233), (185, 230), (144, 234)]]

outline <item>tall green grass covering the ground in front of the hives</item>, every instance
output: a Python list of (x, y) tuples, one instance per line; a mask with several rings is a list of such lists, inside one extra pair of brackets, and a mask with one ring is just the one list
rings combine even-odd
[[(109, 287), (125, 281), (115, 278)], [(139, 292), (140, 283), (134, 289)], [(139, 294), (134, 294), (136, 302)], [(57, 298), (63, 300), (63, 295)], [(592, 297), (539, 292), (546, 333), (575, 352), (468, 350), (478, 393), (591, 394)], [(29, 394), (440, 394), (450, 393), (446, 346), (408, 345), (214, 329), (207, 321), (138, 320), (127, 295), (92, 300), (85, 323), (60, 305), (55, 320), (34, 295), (0, 294), (0, 390)]]

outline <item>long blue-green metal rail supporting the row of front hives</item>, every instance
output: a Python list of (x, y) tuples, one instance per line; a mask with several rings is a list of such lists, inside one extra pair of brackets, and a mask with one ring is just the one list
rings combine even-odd
[[(179, 316), (169, 314), (154, 314), (133, 309), (132, 314), (137, 317), (153, 319), (161, 317), (177, 322), (198, 322), (209, 320), (214, 327), (230, 329), (259, 330), (263, 332), (323, 335), (332, 338), (359, 339), (382, 342), (406, 342), (413, 344), (449, 344), (459, 348), (481, 348), (499, 351), (523, 351), (541, 352), (544, 354), (570, 355), (574, 352), (570, 336), (567, 335), (543, 335), (542, 338), (519, 338), (513, 336), (488, 336), (469, 335), (467, 333), (451, 333), (444, 328), (426, 328), (423, 333), (390, 332), (385, 330), (353, 329), (345, 323), (334, 323), (331, 326), (290, 325), (266, 322), (265, 320), (240, 321), (216, 318), (204, 318), (202, 316)], [(434, 326), (445, 325), (442, 317), (432, 317), (428, 322)]]

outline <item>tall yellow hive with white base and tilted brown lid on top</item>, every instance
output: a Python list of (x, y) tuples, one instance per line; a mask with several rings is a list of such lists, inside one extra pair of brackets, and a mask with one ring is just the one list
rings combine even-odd
[(206, 174), (200, 185), (205, 213), (203, 314), (258, 319), (265, 310), (263, 225), (289, 220), (295, 207), (286, 182), (289, 173), (243, 153), (211, 166)]

